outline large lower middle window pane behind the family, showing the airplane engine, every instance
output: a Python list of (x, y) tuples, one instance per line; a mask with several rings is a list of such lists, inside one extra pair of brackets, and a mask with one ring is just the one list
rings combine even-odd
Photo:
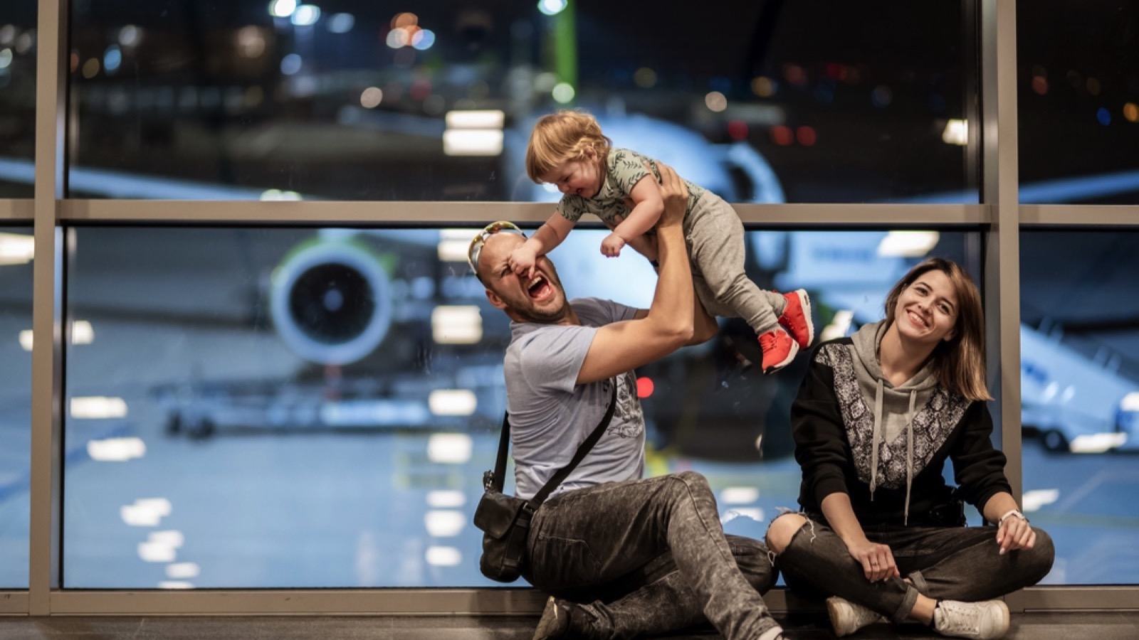
[[(468, 274), (472, 229), (68, 233), (65, 586), (493, 585), (469, 523), (508, 322)], [(748, 269), (810, 289), (841, 335), (926, 252), (975, 262), (974, 235), (918, 236), (898, 252), (885, 231), (755, 231)], [(567, 290), (648, 304), (652, 269), (603, 257), (601, 237), (554, 254)], [(749, 518), (729, 528), (762, 535), (797, 494), (787, 415), (805, 360), (745, 369), (737, 322), (640, 371), (648, 468), (736, 487), (726, 510)]]

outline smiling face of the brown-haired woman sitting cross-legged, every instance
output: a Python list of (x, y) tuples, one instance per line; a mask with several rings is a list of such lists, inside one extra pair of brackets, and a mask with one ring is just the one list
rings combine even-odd
[(944, 271), (918, 276), (898, 296), (894, 325), (903, 337), (929, 346), (951, 339), (957, 328), (957, 293)]

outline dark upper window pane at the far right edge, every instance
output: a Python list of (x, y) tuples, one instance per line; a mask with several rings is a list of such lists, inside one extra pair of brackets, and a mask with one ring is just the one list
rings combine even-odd
[(1016, 10), (1021, 202), (1139, 204), (1139, 1)]

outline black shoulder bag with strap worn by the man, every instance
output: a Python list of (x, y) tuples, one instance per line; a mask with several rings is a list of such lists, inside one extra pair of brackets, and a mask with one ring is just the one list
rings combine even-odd
[(589, 450), (601, 440), (601, 434), (609, 426), (613, 409), (617, 404), (617, 380), (613, 380), (613, 395), (609, 408), (600, 424), (581, 443), (573, 460), (554, 474), (554, 477), (542, 486), (530, 500), (502, 493), (502, 482), (506, 476), (507, 449), (510, 446), (510, 415), (502, 417), (502, 435), (499, 437), (499, 454), (494, 461), (494, 470), (483, 473), (483, 498), (475, 508), (475, 526), (483, 531), (483, 555), (478, 559), (478, 571), (486, 577), (498, 582), (514, 582), (522, 574), (526, 559), (526, 539), (530, 536), (530, 520), (564, 479), (570, 476), (579, 462), (585, 458)]

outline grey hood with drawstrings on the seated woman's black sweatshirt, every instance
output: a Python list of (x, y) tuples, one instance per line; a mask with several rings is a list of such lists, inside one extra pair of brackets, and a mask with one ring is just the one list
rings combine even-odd
[(910, 487), (913, 483), (913, 417), (937, 389), (932, 362), (912, 378), (895, 387), (882, 375), (878, 345), (886, 333), (885, 320), (865, 325), (851, 336), (854, 377), (867, 407), (874, 410), (874, 438), (870, 452), (870, 499), (878, 484), (878, 450), (906, 432), (906, 519), (910, 511)]

